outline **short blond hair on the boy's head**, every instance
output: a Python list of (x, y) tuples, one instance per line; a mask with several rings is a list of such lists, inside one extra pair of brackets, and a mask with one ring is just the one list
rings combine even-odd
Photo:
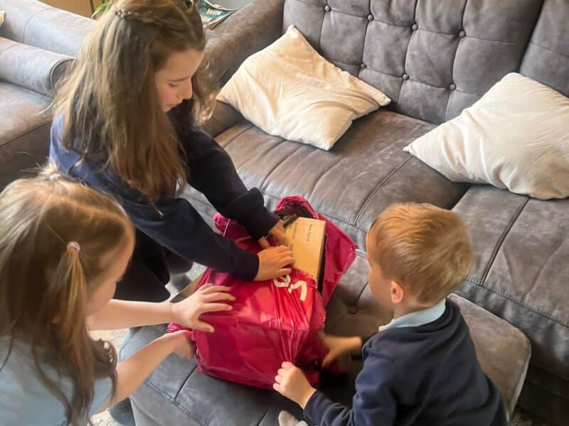
[(450, 295), (474, 262), (462, 219), (431, 204), (392, 204), (373, 222), (368, 244), (383, 275), (426, 304)]

